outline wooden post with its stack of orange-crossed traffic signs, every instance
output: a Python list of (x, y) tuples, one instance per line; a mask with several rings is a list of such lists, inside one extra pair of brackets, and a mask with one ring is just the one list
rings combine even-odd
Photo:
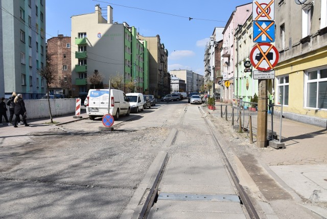
[(275, 41), (275, 0), (253, 0), (253, 42), (258, 42), (250, 53), (253, 79), (258, 86), (258, 135), (256, 146), (267, 146), (267, 79), (274, 79), (273, 68), (278, 62), (278, 50), (270, 43)]

